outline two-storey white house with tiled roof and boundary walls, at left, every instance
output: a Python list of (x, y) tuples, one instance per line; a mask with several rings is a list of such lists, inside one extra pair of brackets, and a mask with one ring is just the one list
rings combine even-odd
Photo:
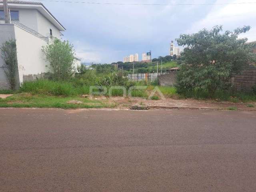
[[(16, 39), (18, 79), (40, 78), (49, 71), (48, 63), (42, 54), (51, 37), (61, 38), (66, 29), (40, 2), (8, 1), (11, 24), (4, 23), (3, 1), (0, 0), (0, 45), (6, 40)], [(75, 67), (80, 66), (76, 59)], [(4, 74), (4, 61), (0, 58), (0, 89), (9, 87)]]

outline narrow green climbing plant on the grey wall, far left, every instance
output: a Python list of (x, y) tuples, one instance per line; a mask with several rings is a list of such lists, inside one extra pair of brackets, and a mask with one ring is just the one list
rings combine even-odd
[(18, 79), (18, 62), (17, 62), (17, 51), (16, 51), (16, 40), (10, 39), (2, 44), (0, 47), (1, 57), (5, 62), (7, 70), (4, 70), (10, 88), (14, 90), (17, 86)]

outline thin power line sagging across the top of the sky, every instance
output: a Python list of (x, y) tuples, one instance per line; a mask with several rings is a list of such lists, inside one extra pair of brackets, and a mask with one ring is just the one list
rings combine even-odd
[[(31, 0), (30, 0), (31, 1)], [(32, 0), (33, 1), (33, 0)], [(241, 4), (256, 4), (256, 2), (238, 2), (238, 3), (199, 3), (199, 4), (138, 4), (138, 3), (99, 3), (86, 1), (65, 1), (65, 0), (39, 0), (42, 2), (60, 2), (60, 3), (84, 3), (95, 5), (137, 5), (137, 6), (204, 6), (204, 5), (241, 5)]]

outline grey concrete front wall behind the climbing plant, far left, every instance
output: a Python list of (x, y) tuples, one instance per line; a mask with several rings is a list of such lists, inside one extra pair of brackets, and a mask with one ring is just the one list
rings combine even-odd
[[(15, 39), (14, 25), (0, 24), (0, 46), (10, 39)], [(6, 65), (2, 57), (0, 56), (0, 89), (9, 89), (10, 85), (6, 78), (4, 71), (7, 70)], [(17, 72), (17, 85), (19, 84), (18, 72)]]

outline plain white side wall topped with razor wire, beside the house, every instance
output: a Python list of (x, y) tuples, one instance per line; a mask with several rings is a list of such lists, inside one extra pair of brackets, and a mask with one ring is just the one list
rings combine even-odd
[(14, 26), (14, 30), (20, 83), (24, 75), (48, 72), (49, 63), (42, 54), (42, 46), (47, 42), (18, 26)]

